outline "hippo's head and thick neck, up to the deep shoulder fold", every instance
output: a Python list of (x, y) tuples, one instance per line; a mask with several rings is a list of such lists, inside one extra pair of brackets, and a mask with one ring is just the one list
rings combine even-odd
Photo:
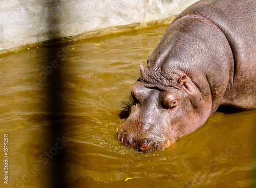
[(216, 65), (228, 60), (220, 45), (225, 36), (215, 27), (190, 17), (170, 24), (146, 68), (140, 64), (130, 115), (117, 131), (121, 143), (143, 152), (168, 147), (216, 111), (229, 78), (212, 76), (228, 72)]

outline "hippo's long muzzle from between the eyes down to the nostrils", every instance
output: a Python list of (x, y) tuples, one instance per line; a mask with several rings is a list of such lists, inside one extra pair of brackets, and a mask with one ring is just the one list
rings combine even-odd
[(167, 110), (160, 104), (161, 92), (138, 82), (131, 93), (134, 101), (130, 116), (117, 131), (121, 143), (142, 152), (169, 146), (170, 141), (174, 142), (175, 139), (170, 134)]

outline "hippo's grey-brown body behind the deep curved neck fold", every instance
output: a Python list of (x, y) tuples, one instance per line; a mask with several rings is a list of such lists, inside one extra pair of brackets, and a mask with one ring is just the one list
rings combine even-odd
[(255, 106), (253, 93), (256, 93), (256, 1), (199, 1), (185, 9), (173, 23), (188, 15), (202, 16), (218, 26), (232, 50), (233, 76), (220, 105), (251, 109)]

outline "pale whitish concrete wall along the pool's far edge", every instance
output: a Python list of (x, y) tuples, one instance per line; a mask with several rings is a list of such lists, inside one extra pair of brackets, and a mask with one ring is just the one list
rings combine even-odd
[(178, 15), (198, 0), (1, 0), (0, 50)]

